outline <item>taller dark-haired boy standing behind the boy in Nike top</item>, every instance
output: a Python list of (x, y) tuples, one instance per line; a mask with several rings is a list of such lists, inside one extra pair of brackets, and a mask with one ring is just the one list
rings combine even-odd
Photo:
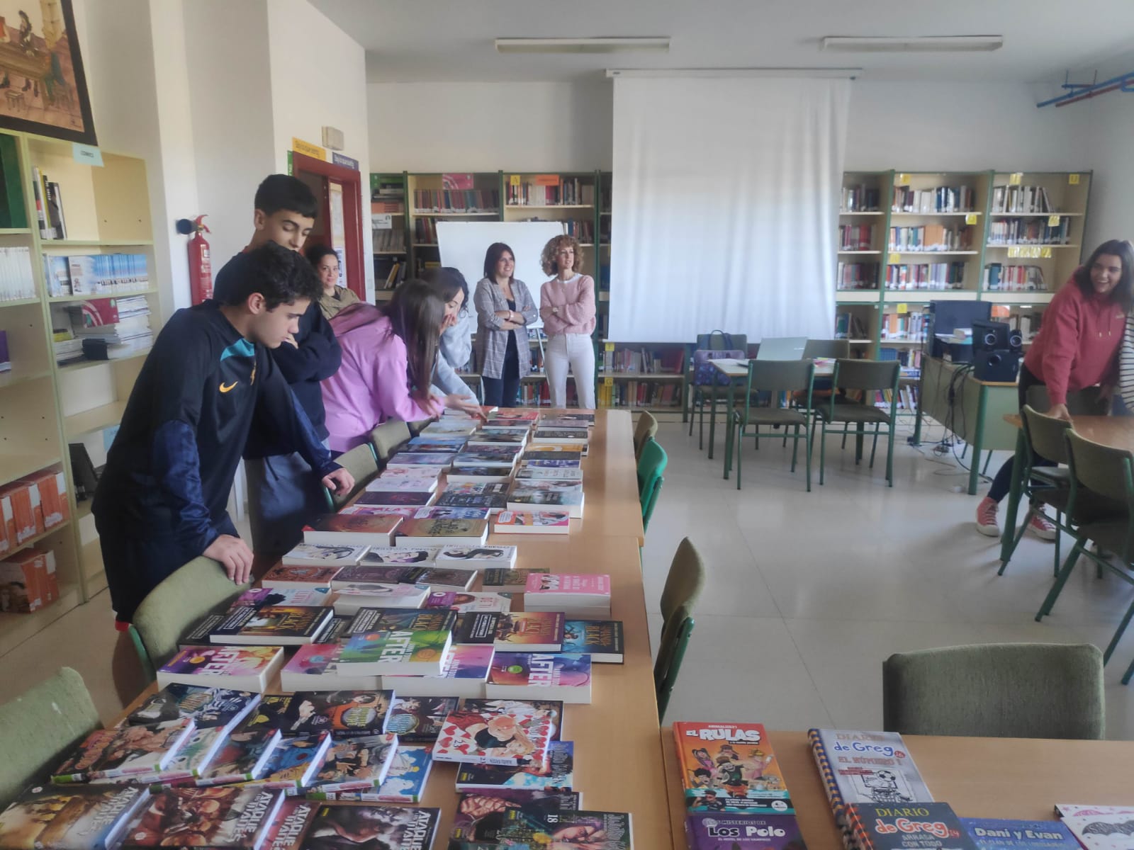
[[(302, 180), (269, 175), (256, 189), (254, 206), (252, 239), (245, 252), (269, 241), (296, 252), (303, 248), (315, 224), (318, 204)], [(223, 303), (231, 288), (239, 286), (246, 256), (237, 254), (217, 273), (214, 298)], [(318, 296), (299, 320), (298, 330), (272, 350), (272, 359), (324, 445), (327, 426), (319, 383), (335, 374), (340, 358), (339, 343), (323, 318)], [(290, 447), (264, 441), (262, 436), (266, 433), (266, 428), (253, 430), (253, 439), (244, 452), (248, 525), (257, 573), (299, 543), (303, 526), (327, 509), (319, 476), (307, 461)]]

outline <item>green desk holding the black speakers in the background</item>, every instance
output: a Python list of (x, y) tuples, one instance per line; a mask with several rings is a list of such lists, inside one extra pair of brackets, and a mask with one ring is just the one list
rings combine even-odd
[(939, 357), (922, 359), (917, 393), (914, 444), (921, 443), (922, 416), (946, 425), (973, 448), (968, 469), (968, 494), (976, 493), (981, 452), (1012, 451), (1016, 433), (1004, 422), (1006, 414), (1019, 410), (1016, 383), (978, 381), (972, 372), (958, 374), (971, 364), (948, 363)]

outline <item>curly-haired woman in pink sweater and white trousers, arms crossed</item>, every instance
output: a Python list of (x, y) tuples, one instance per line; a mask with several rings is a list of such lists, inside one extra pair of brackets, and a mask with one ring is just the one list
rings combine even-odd
[(578, 406), (594, 409), (594, 280), (581, 274), (583, 252), (574, 236), (557, 236), (540, 256), (544, 274), (540, 287), (540, 317), (548, 334), (545, 365), (551, 407), (567, 407), (567, 373), (575, 375)]

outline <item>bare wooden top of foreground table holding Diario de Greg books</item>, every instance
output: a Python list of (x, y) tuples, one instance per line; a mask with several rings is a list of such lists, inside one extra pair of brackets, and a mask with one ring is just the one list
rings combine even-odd
[[(806, 732), (769, 732), (807, 850), (844, 850)], [(1053, 821), (1057, 802), (1129, 806), (1134, 741), (903, 736), (933, 798), (960, 817)], [(672, 729), (661, 730), (674, 850), (687, 850)], [(636, 844), (635, 844), (636, 847)]]

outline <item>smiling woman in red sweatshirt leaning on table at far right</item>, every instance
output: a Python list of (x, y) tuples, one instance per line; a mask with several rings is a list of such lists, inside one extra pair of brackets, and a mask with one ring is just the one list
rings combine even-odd
[[(1109, 400), (1118, 381), (1118, 350), (1132, 300), (1134, 248), (1119, 239), (1105, 241), (1075, 270), (1044, 311), (1043, 325), (1019, 367), (1019, 406), (1027, 400), (1027, 390), (1036, 385), (1047, 386), (1051, 402), (1048, 416), (1059, 419), (1070, 419), (1068, 392), (1098, 385), (1100, 400)], [(1053, 466), (1039, 456), (1032, 462)], [(1010, 486), (1009, 459), (976, 507), (978, 532), (1000, 536), (997, 508)], [(1042, 539), (1056, 538), (1055, 525), (1042, 513), (1035, 515), (1029, 528)]]

